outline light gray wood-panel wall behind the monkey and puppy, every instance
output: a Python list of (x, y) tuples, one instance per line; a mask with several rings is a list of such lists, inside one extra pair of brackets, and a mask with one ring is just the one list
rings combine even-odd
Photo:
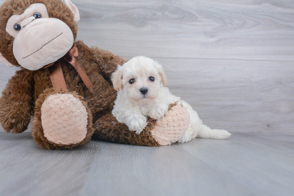
[[(77, 39), (127, 60), (159, 60), (171, 92), (209, 127), (294, 132), (294, 1), (73, 3)], [(0, 90), (14, 71), (1, 64)]]

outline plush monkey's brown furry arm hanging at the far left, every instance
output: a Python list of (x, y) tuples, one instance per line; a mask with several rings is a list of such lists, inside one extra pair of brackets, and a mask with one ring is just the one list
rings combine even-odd
[(32, 71), (21, 69), (2, 91), (0, 123), (7, 133), (22, 133), (28, 128), (34, 111), (33, 81)]

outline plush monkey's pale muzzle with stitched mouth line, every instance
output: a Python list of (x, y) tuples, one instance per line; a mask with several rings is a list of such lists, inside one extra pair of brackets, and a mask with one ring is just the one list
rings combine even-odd
[(22, 26), (13, 41), (13, 54), (26, 69), (41, 69), (63, 57), (73, 46), (71, 29), (59, 19), (33, 19)]

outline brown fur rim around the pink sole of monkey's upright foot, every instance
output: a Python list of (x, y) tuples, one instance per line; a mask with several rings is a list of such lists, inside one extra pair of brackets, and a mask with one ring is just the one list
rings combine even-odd
[[(71, 145), (62, 145), (62, 144), (55, 144), (53, 142), (48, 141), (48, 139), (44, 136), (43, 133), (43, 127), (42, 127), (42, 121), (41, 121), (41, 107), (43, 102), (45, 101), (45, 99), (47, 97), (49, 97), (50, 95), (56, 94), (56, 93), (65, 93), (65, 94), (71, 94), (74, 97), (78, 98), (79, 100), (82, 101), (82, 104), (85, 106), (86, 111), (88, 113), (88, 124), (87, 124), (87, 133), (86, 133), (86, 137), (79, 143), (76, 144), (71, 144)], [(68, 92), (68, 90), (59, 90), (59, 91), (55, 91), (53, 88), (51, 89), (46, 89), (44, 91), (44, 93), (42, 93), (38, 100), (36, 101), (36, 106), (35, 106), (35, 116), (34, 116), (34, 120), (32, 122), (32, 136), (35, 139), (35, 141), (37, 142), (38, 145), (40, 145), (42, 148), (47, 148), (47, 149), (56, 149), (56, 150), (60, 150), (60, 149), (70, 149), (70, 148), (74, 148), (76, 146), (85, 144), (86, 142), (88, 142), (91, 139), (91, 136), (94, 132), (94, 129), (92, 127), (92, 115), (91, 115), (91, 111), (89, 110), (89, 108), (87, 107), (87, 103), (85, 101), (83, 101), (83, 98), (79, 95), (77, 95), (75, 92)]]

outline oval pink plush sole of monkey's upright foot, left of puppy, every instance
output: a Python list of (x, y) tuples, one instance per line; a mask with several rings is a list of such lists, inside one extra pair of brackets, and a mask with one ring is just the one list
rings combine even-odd
[(85, 106), (71, 94), (50, 95), (41, 107), (44, 136), (55, 144), (81, 142), (86, 137), (87, 118)]

